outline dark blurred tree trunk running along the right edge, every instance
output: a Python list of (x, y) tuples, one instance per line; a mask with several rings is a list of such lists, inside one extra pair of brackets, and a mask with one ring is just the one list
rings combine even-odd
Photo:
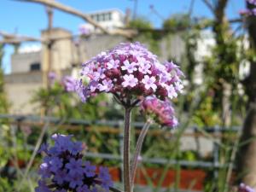
[[(247, 1), (247, 9), (253, 12), (256, 4)], [(238, 153), (238, 172), (241, 172), (242, 182), (256, 189), (256, 15), (248, 15), (246, 18), (248, 39), (250, 42), (251, 63), (250, 73), (244, 81), (248, 96), (247, 116), (244, 120), (241, 143), (243, 144)]]

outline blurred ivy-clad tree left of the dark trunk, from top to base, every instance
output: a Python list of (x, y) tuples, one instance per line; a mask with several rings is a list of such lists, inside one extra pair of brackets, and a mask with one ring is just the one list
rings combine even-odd
[(232, 32), (230, 22), (225, 15), (229, 0), (215, 0), (212, 3), (204, 0), (214, 16), (212, 32), (216, 46), (212, 49), (212, 56), (205, 65), (205, 73), (211, 74), (211, 87), (214, 90), (214, 106), (219, 110), (223, 126), (231, 125), (231, 102), (237, 95), (238, 57), (237, 39)]

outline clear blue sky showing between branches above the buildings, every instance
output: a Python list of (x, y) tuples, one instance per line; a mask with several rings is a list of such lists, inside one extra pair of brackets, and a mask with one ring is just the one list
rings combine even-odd
[[(125, 9), (133, 9), (134, 0), (55, 0), (65, 3), (80, 11), (91, 12), (99, 9), (117, 8), (125, 13)], [(244, 0), (230, 0), (226, 10), (229, 18), (237, 18), (239, 9), (244, 8)], [(190, 0), (137, 0), (137, 15), (148, 18), (155, 27), (160, 27), (162, 20), (151, 13), (149, 5), (154, 8), (164, 18), (176, 13), (187, 12)], [(212, 17), (211, 12), (202, 3), (202, 0), (195, 0), (195, 16)], [(47, 26), (47, 17), (44, 6), (36, 3), (20, 3), (13, 0), (0, 1), (0, 30), (5, 32), (17, 32), (22, 35), (39, 37), (40, 31)], [(73, 15), (67, 15), (60, 11), (55, 11), (54, 26), (64, 27), (78, 33), (79, 24), (84, 20)], [(12, 46), (5, 47), (3, 58), (3, 68), (5, 73), (10, 72), (10, 55), (13, 52)]]

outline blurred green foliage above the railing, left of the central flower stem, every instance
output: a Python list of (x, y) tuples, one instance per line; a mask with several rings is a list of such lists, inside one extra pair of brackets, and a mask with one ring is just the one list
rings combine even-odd
[[(75, 93), (64, 90), (59, 82), (52, 84), (49, 89), (39, 89), (32, 98), (32, 102), (56, 117), (86, 120), (103, 119), (112, 108), (110, 101), (108, 96), (101, 94), (82, 103)], [(115, 113), (113, 118), (118, 114)]]

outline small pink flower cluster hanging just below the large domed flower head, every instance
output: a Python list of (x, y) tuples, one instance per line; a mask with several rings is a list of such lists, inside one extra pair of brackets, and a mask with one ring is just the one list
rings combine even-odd
[(142, 102), (141, 108), (143, 113), (153, 118), (156, 123), (170, 127), (177, 126), (171, 102), (160, 101), (154, 96), (148, 96)]

